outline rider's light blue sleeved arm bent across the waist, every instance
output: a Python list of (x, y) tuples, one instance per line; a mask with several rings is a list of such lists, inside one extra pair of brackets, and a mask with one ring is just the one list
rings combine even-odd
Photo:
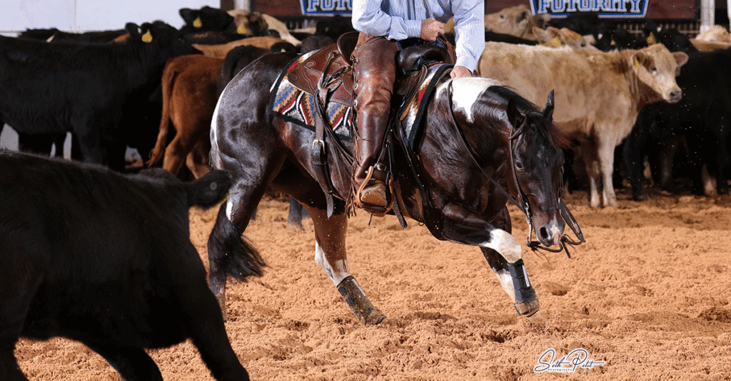
[[(398, 1), (392, 1), (390, 6), (396, 7), (398, 4)], [(356, 31), (397, 40), (421, 36), (420, 20), (388, 15), (381, 9), (381, 1), (352, 0), (352, 7), (352, 23)]]

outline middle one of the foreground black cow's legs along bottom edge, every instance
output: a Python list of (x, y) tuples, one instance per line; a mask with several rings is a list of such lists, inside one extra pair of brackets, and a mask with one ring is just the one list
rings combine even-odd
[(155, 361), (141, 348), (84, 342), (99, 353), (125, 381), (162, 381), (162, 374)]

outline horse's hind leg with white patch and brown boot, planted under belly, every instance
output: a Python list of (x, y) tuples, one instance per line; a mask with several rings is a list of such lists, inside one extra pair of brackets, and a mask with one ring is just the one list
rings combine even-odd
[(325, 210), (313, 207), (306, 209), (315, 229), (315, 261), (337, 285), (341, 296), (361, 324), (371, 326), (381, 323), (386, 316), (371, 304), (366, 293), (348, 271), (345, 253), (347, 216), (340, 214), (327, 218)]

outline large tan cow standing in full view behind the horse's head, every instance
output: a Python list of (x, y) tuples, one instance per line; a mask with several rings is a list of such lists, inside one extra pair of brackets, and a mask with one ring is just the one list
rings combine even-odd
[(688, 55), (670, 53), (661, 44), (602, 53), (488, 42), (477, 71), (535, 104), (555, 90), (553, 120), (582, 142), (591, 206), (616, 207), (614, 148), (632, 131), (645, 104), (681, 99), (675, 74), (686, 61)]

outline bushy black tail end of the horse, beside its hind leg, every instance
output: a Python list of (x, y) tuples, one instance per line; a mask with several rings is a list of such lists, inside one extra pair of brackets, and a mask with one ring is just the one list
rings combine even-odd
[[(226, 216), (227, 202), (221, 204), (216, 225), (208, 237), (208, 263), (211, 277), (229, 274), (245, 282), (251, 275), (260, 277), (266, 266), (259, 251), (243, 236), (243, 229)], [(224, 278), (225, 279), (225, 278)]]

